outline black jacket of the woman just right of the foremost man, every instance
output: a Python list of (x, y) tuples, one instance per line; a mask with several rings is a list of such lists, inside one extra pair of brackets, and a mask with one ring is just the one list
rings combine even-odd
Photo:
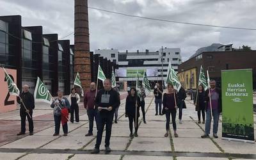
[[(125, 102), (125, 115), (135, 117), (136, 113), (136, 97), (128, 95)], [(137, 97), (137, 116), (140, 116), (140, 97)]]

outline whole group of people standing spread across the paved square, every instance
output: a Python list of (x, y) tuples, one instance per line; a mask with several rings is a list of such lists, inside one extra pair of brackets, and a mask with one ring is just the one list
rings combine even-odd
[[(213, 137), (218, 138), (218, 120), (221, 113), (221, 90), (216, 88), (216, 83), (214, 80), (210, 82), (211, 88), (204, 92), (202, 85), (198, 87), (198, 92), (195, 94), (194, 104), (196, 106), (196, 111), (198, 111), (198, 124), (201, 123), (200, 115), (202, 113), (203, 124), (205, 123), (205, 134), (202, 138), (209, 138), (211, 129), (211, 116), (213, 116)], [(129, 90), (125, 101), (125, 117), (129, 119), (129, 130), (130, 137), (138, 136), (138, 118), (140, 116), (140, 108), (143, 114), (143, 122), (146, 124), (145, 120), (145, 90), (142, 88), (140, 97), (138, 96), (138, 91), (136, 88), (132, 87)], [(170, 117), (172, 116), (172, 125), (174, 136), (178, 137), (177, 125), (176, 125), (176, 113), (179, 108), (179, 122), (182, 118), (182, 108), (186, 108), (184, 100), (186, 99), (186, 92), (184, 88), (180, 88), (179, 92), (173, 88), (173, 84), (168, 83), (167, 92), (163, 94), (163, 88), (159, 84), (156, 84), (154, 88), (154, 97), (156, 103), (156, 115), (166, 115), (166, 133), (164, 137), (169, 136), (170, 131)], [(211, 99), (211, 100), (210, 100)], [(68, 124), (70, 121), (74, 123), (79, 122), (79, 106), (80, 101), (79, 94), (76, 90), (72, 88), (68, 98), (63, 96), (61, 91), (58, 91), (58, 97), (54, 99), (51, 104), (53, 108), (55, 132), (53, 136), (58, 136), (60, 134), (60, 123), (63, 127), (63, 136), (68, 134)], [(32, 113), (35, 108), (35, 100), (31, 93), (29, 93), (29, 86), (23, 86), (23, 92), (20, 93), (20, 119), (21, 119), (21, 130), (19, 134), (22, 135), (26, 132), (26, 116), (29, 122), (29, 135), (33, 135), (33, 120)], [(163, 109), (161, 105), (163, 104)], [(24, 107), (26, 106), (26, 108)], [(97, 140), (95, 148), (92, 150), (92, 154), (98, 154), (100, 152), (99, 147), (102, 141), (102, 133), (104, 131), (104, 126), (106, 125), (106, 137), (105, 137), (105, 148), (106, 152), (111, 152), (109, 148), (109, 141), (111, 138), (111, 129), (115, 115), (115, 123), (117, 123), (118, 108), (120, 106), (120, 94), (118, 93), (118, 88), (111, 87), (111, 80), (106, 79), (104, 81), (104, 88), (97, 90), (96, 84), (90, 84), (90, 91), (86, 92), (84, 95), (84, 108), (87, 110), (88, 120), (89, 120), (89, 130), (85, 136), (93, 135), (93, 121), (95, 120), (97, 125)], [(159, 111), (159, 112), (158, 112)], [(206, 120), (205, 120), (206, 112)], [(70, 120), (68, 115), (71, 113)], [(74, 118), (75, 113), (75, 118)], [(134, 133), (133, 133), (134, 125)]]

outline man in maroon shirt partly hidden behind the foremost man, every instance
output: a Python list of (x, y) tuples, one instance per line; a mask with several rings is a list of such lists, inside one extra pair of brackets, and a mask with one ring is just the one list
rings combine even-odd
[[(93, 135), (93, 121), (97, 125), (97, 109), (95, 108), (95, 94), (96, 94), (96, 84), (92, 82), (90, 84), (90, 91), (86, 92), (84, 95), (84, 108), (87, 110), (87, 116), (89, 120), (89, 131), (85, 136)], [(97, 127), (98, 128), (98, 127)]]

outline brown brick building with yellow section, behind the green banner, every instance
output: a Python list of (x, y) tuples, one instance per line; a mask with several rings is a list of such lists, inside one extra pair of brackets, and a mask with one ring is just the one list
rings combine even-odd
[(221, 51), (198, 51), (189, 60), (179, 65), (178, 77), (186, 90), (196, 90), (201, 65), (205, 75), (208, 70), (209, 76), (216, 80), (216, 85), (219, 87), (221, 70), (252, 68), (253, 88), (256, 88), (256, 51), (235, 51), (235, 49), (228, 49), (230, 45), (220, 46)]

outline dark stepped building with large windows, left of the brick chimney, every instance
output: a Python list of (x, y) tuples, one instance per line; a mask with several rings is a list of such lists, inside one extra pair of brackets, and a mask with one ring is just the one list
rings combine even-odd
[(43, 35), (42, 26), (21, 26), (20, 15), (0, 17), (0, 63), (17, 70), (17, 86), (29, 84), (35, 90), (40, 77), (52, 95), (58, 90), (70, 93), (74, 81), (74, 54), (69, 40), (57, 34)]

